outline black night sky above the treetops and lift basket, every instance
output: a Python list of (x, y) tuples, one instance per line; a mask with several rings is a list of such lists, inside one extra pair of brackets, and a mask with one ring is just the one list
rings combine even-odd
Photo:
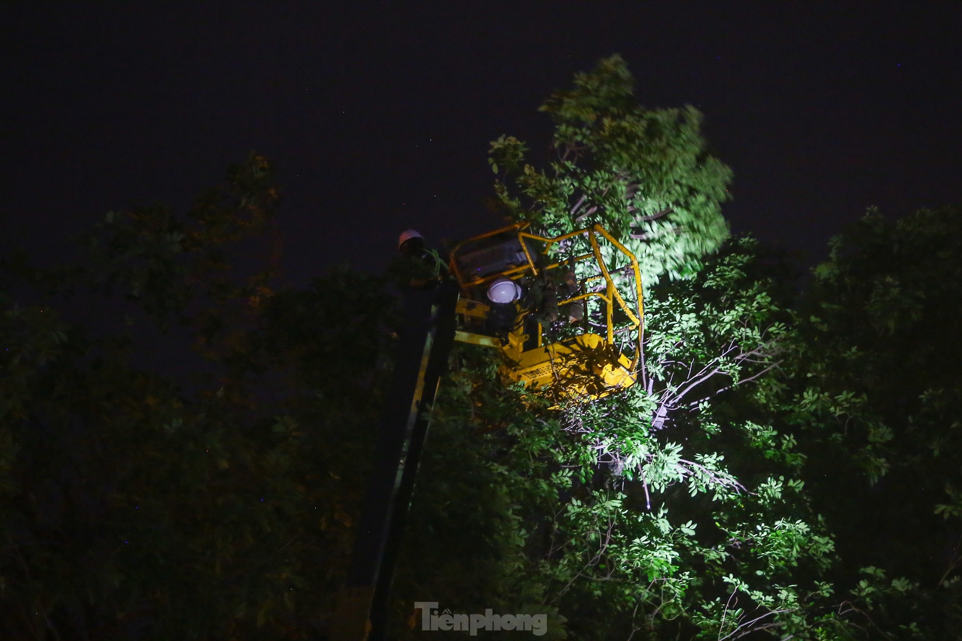
[(615, 52), (644, 105), (705, 114), (736, 232), (811, 262), (868, 205), (962, 202), (959, 3), (198, 4), (0, 9), (3, 244), (59, 257), (107, 210), (186, 210), (256, 149), (289, 281), (380, 268), (403, 228), (496, 225), (488, 141), (543, 151), (536, 108)]

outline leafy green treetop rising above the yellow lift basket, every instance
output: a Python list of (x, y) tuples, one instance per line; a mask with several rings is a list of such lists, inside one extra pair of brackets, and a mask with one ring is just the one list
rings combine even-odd
[(554, 160), (525, 161), (501, 136), (490, 159), (500, 209), (553, 235), (601, 223), (638, 257), (646, 284), (681, 278), (728, 235), (722, 202), (731, 170), (706, 152), (695, 108), (646, 109), (619, 56), (574, 77), (541, 111), (554, 121)]

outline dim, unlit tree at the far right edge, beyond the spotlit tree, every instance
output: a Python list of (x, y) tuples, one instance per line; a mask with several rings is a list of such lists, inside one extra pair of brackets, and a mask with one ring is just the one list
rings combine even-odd
[(833, 238), (804, 299), (785, 414), (861, 624), (917, 638), (962, 629), (960, 275), (955, 207), (896, 222), (869, 210)]

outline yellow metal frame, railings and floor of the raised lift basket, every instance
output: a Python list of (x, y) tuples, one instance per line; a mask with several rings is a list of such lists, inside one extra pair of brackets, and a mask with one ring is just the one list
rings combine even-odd
[[(525, 230), (527, 224), (512, 225), (504, 227), (488, 234), (481, 234), (460, 243), (451, 250), (451, 272), (458, 280), (463, 292), (470, 289), (488, 284), (499, 278), (510, 278), (519, 280), (525, 276), (537, 276), (540, 271), (546, 271), (561, 266), (570, 259), (554, 262), (539, 269), (536, 260), (532, 257), (525, 240), (535, 240), (544, 243), (543, 255), (551, 251), (551, 247), (559, 242), (579, 235), (587, 235), (591, 244), (592, 252), (574, 257), (574, 261), (595, 259), (598, 264), (599, 273), (582, 279), (582, 283), (590, 283), (599, 279), (605, 282), (604, 293), (590, 291), (585, 294), (573, 296), (565, 301), (559, 301), (559, 307), (570, 305), (576, 301), (598, 298), (605, 305), (605, 336), (595, 333), (583, 333), (562, 342), (550, 345), (542, 344), (542, 328), (538, 326), (537, 347), (535, 349), (523, 350), (525, 342), (529, 336), (524, 333), (510, 332), (507, 336), (507, 343), (502, 343), (499, 338), (478, 333), (459, 331), (455, 339), (475, 345), (494, 347), (502, 349), (513, 363), (513, 367), (504, 368), (505, 374), (516, 382), (521, 382), (525, 386), (546, 387), (560, 380), (568, 381), (566, 390), (562, 390), (562, 395), (569, 398), (599, 398), (605, 396), (614, 389), (628, 387), (634, 384), (638, 359), (641, 355), (642, 324), (644, 322), (644, 304), (642, 297), (642, 275), (638, 265), (638, 259), (617, 238), (608, 233), (600, 225), (586, 227), (570, 234), (563, 234), (556, 237), (545, 237), (543, 235), (531, 234)], [(458, 265), (458, 254), (468, 244), (473, 244), (485, 240), (498, 234), (514, 233), (518, 234), (519, 244), (526, 264), (513, 267), (486, 277), (475, 277), (468, 279), (462, 273)], [(601, 256), (601, 247), (598, 243), (598, 236), (601, 236), (612, 244), (630, 262), (632, 275), (634, 276), (636, 300), (638, 305), (631, 308), (624, 300), (608, 266)], [(638, 343), (633, 357), (628, 358), (621, 354), (615, 347), (615, 328), (612, 322), (612, 312), (614, 306), (618, 305), (631, 321), (631, 330), (638, 331)], [(462, 298), (458, 302), (458, 313), (466, 318), (485, 318), (490, 308), (488, 305)], [(527, 313), (519, 309), (517, 322)]]

